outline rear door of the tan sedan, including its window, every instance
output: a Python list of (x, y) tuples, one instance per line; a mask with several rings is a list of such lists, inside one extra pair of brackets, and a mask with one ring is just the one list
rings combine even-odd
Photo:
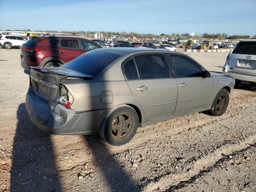
[(139, 54), (123, 64), (126, 82), (148, 121), (174, 114), (178, 88), (164, 54)]

